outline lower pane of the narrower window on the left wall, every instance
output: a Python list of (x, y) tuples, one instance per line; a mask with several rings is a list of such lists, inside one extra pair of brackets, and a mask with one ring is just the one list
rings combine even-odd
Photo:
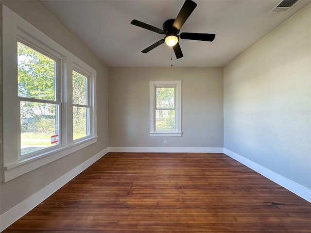
[(89, 108), (73, 107), (73, 140), (89, 135)]

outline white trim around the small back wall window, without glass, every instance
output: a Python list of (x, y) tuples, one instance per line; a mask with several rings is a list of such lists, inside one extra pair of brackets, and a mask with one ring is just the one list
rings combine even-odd
[[(174, 87), (175, 88), (175, 131), (155, 131), (155, 88), (156, 87)], [(181, 137), (181, 81), (149, 81), (149, 106), (150, 106), (150, 137)]]

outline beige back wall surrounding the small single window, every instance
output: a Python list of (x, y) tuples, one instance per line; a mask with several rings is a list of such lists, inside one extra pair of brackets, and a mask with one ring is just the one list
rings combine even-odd
[[(149, 137), (149, 81), (182, 81), (182, 137)], [(109, 68), (109, 147), (223, 148), (222, 68)]]

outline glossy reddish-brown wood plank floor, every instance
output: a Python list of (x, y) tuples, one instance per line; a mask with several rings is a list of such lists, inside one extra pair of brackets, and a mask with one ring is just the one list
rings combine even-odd
[(301, 233), (311, 203), (224, 154), (108, 153), (5, 233)]

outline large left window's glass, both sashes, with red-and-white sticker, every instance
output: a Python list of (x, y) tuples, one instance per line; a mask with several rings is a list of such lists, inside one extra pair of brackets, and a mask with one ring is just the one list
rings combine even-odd
[(17, 42), (19, 156), (59, 145), (58, 61)]

